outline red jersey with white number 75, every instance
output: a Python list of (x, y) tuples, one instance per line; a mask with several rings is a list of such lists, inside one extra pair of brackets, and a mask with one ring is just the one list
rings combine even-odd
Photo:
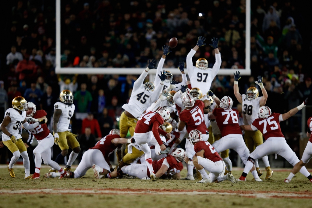
[(281, 114), (279, 113), (272, 113), (267, 118), (256, 118), (251, 125), (261, 131), (265, 140), (270, 137), (284, 137), (282, 131), (280, 130), (280, 115)]

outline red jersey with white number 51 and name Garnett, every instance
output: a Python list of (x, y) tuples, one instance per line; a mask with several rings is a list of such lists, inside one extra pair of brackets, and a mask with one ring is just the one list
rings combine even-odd
[(207, 127), (204, 121), (204, 103), (201, 100), (196, 100), (195, 104), (190, 109), (184, 109), (179, 119), (186, 124), (186, 130), (190, 133), (194, 129), (198, 129), (202, 134), (206, 134)]

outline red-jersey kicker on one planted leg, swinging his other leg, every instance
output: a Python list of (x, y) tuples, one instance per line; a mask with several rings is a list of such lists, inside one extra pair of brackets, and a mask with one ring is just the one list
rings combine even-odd
[(156, 176), (152, 166), (151, 149), (147, 143), (152, 141), (153, 134), (156, 141), (158, 142), (158, 145), (160, 146), (160, 150), (164, 151), (166, 149), (166, 146), (160, 139), (159, 134), (166, 135), (167, 138), (171, 138), (171, 135), (160, 129), (159, 126), (163, 125), (163, 123), (167, 121), (169, 117), (170, 111), (166, 107), (160, 107), (156, 111), (147, 111), (141, 115), (134, 129), (135, 142), (145, 153), (145, 161), (149, 167), (152, 181), (156, 181)]

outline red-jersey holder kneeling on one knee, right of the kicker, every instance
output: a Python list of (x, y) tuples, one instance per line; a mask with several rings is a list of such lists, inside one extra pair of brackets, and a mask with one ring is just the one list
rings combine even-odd
[[(225, 180), (229, 180), (232, 183), (237, 182), (230, 172), (224, 176), (225, 163), (215, 148), (208, 141), (202, 140), (202, 133), (199, 130), (192, 130), (189, 133), (188, 140), (194, 145), (196, 154), (193, 157), (193, 162), (187, 157), (184, 161), (191, 166), (195, 166), (201, 173), (202, 180), (197, 183), (211, 183), (212, 181), (218, 183)], [(209, 176), (205, 170), (210, 172)]]

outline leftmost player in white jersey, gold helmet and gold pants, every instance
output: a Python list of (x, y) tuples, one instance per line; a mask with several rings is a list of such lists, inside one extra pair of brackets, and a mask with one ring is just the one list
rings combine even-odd
[(26, 105), (27, 101), (23, 97), (15, 97), (12, 100), (12, 108), (7, 109), (5, 112), (4, 119), (1, 124), (2, 141), (5, 146), (12, 152), (13, 156), (7, 169), (12, 178), (15, 177), (13, 171), (13, 165), (18, 160), (20, 156), (23, 157), (23, 164), (25, 167), (25, 179), (32, 179), (29, 176), (29, 157), (27, 154), (27, 148), (22, 141), (22, 136), (20, 134), (21, 125), (23, 124), (26, 130), (31, 130), (36, 128), (40, 124), (44, 124), (46, 121), (44, 119), (34, 123), (28, 124), (26, 121)]

